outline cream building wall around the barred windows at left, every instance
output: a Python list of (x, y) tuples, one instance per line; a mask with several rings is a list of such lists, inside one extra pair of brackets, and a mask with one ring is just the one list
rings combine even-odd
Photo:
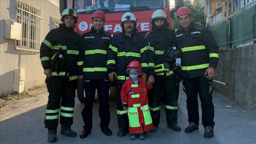
[[(22, 0), (43, 11), (43, 37), (53, 29), (53, 17), (59, 17), (59, 7), (48, 0)], [(0, 95), (14, 91), (14, 70), (25, 68), (24, 88), (44, 84), (45, 75), (39, 52), (16, 50), (16, 41), (4, 39), (4, 21), (16, 21), (16, 0), (1, 0), (0, 5)]]

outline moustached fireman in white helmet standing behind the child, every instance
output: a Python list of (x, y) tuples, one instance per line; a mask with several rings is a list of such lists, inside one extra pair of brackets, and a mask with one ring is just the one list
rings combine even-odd
[(117, 135), (122, 137), (128, 132), (127, 110), (121, 106), (121, 89), (125, 80), (129, 77), (126, 74), (126, 66), (129, 62), (137, 60), (142, 64), (142, 81), (146, 82), (148, 71), (148, 53), (145, 44), (145, 38), (137, 33), (137, 19), (130, 13), (125, 13), (121, 18), (121, 27), (123, 32), (115, 34), (107, 51), (107, 72), (111, 82), (117, 77)]

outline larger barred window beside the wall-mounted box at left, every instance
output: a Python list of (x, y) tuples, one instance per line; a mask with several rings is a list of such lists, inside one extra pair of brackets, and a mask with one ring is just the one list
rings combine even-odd
[(16, 49), (39, 52), (43, 34), (43, 11), (22, 1), (17, 2), (17, 22), (21, 23), (21, 40)]

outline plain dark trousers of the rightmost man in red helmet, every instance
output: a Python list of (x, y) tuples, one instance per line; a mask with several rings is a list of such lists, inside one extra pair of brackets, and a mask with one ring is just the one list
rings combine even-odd
[(197, 94), (201, 100), (202, 124), (213, 127), (215, 125), (213, 106), (213, 80), (208, 80), (207, 75), (197, 78), (183, 78), (183, 91), (187, 94), (188, 122), (199, 124)]

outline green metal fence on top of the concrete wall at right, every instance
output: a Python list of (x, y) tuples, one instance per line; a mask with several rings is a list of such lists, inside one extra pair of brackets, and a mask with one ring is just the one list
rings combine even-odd
[(219, 47), (235, 47), (256, 41), (256, 5), (228, 21), (210, 27)]

